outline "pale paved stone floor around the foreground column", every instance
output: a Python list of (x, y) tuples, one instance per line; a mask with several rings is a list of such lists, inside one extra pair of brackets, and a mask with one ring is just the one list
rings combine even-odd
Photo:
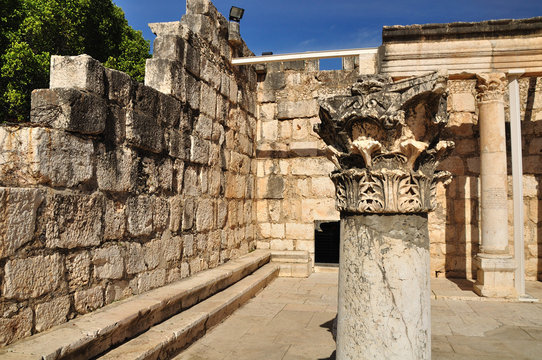
[[(542, 359), (542, 304), (481, 301), (469, 285), (433, 280), (432, 358)], [(175, 360), (331, 360), (336, 308), (337, 274), (278, 278)]]

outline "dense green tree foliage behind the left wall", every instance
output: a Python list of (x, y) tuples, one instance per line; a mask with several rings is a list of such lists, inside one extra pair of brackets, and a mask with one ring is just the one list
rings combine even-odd
[(51, 55), (88, 54), (139, 81), (149, 42), (112, 0), (0, 0), (0, 121), (27, 120)]

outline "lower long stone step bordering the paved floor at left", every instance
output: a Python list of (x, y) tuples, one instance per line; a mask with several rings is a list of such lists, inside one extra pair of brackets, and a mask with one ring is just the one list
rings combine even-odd
[(220, 323), (278, 276), (267, 264), (229, 288), (153, 326), (145, 333), (98, 357), (102, 360), (170, 359)]

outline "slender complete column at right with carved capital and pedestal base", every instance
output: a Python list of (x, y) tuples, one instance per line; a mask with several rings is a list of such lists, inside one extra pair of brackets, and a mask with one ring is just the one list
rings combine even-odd
[(515, 297), (515, 262), (508, 246), (504, 73), (479, 74), (477, 84), (480, 126), (480, 253), (474, 291), (480, 296)]

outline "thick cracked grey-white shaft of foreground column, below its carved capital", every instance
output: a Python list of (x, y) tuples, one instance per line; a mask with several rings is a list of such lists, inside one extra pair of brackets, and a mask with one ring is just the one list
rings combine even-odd
[(343, 216), (337, 359), (430, 359), (430, 309), (427, 214)]

